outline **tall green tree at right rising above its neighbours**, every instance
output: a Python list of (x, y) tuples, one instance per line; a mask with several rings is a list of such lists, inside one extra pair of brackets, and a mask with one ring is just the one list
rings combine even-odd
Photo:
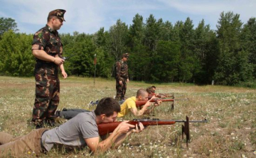
[(249, 53), (242, 50), (240, 41), (242, 22), (239, 18), (239, 14), (233, 12), (220, 13), (217, 26), (220, 55), (215, 72), (218, 84), (234, 85), (252, 79), (252, 66), (247, 62)]

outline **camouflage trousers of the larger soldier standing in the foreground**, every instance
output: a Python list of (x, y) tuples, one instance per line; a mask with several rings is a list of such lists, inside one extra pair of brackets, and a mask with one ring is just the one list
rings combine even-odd
[(32, 123), (43, 125), (54, 123), (54, 113), (60, 101), (58, 74), (36, 74), (36, 98), (33, 106)]

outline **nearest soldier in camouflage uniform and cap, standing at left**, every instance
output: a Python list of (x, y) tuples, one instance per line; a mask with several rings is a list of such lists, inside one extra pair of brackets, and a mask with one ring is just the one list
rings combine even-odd
[(32, 53), (36, 57), (36, 99), (32, 123), (36, 125), (36, 128), (43, 127), (43, 120), (48, 125), (55, 125), (54, 113), (60, 101), (58, 68), (64, 79), (68, 77), (63, 66), (65, 62), (62, 59), (63, 44), (57, 31), (65, 21), (64, 13), (63, 9), (50, 11), (46, 26), (33, 36)]

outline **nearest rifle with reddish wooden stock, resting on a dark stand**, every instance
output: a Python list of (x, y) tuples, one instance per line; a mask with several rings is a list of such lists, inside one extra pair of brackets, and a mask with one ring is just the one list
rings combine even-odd
[[(113, 123), (100, 123), (97, 125), (97, 128), (99, 130), (99, 135), (107, 135), (110, 132), (113, 132), (117, 126), (122, 123), (122, 121), (119, 122), (113, 122)], [(174, 125), (174, 123), (184, 123), (182, 125), (182, 139), (183, 134), (186, 135), (186, 147), (188, 147), (188, 140), (190, 140), (189, 135), (189, 123), (208, 123), (208, 120), (189, 120), (188, 116), (186, 116), (186, 120), (159, 120), (159, 119), (134, 119), (130, 120), (128, 122), (131, 125), (136, 125), (139, 123), (142, 123), (145, 127), (148, 125)]]

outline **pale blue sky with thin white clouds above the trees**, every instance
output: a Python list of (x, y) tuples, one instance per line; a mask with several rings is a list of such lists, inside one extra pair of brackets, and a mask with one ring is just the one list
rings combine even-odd
[(13, 18), (19, 33), (33, 34), (47, 23), (47, 16), (55, 9), (65, 9), (65, 22), (59, 33), (93, 34), (104, 27), (109, 30), (118, 19), (132, 25), (139, 13), (146, 23), (152, 14), (156, 20), (177, 21), (190, 18), (196, 28), (204, 20), (216, 30), (220, 13), (233, 11), (240, 21), (256, 16), (255, 0), (0, 0), (0, 17)]

